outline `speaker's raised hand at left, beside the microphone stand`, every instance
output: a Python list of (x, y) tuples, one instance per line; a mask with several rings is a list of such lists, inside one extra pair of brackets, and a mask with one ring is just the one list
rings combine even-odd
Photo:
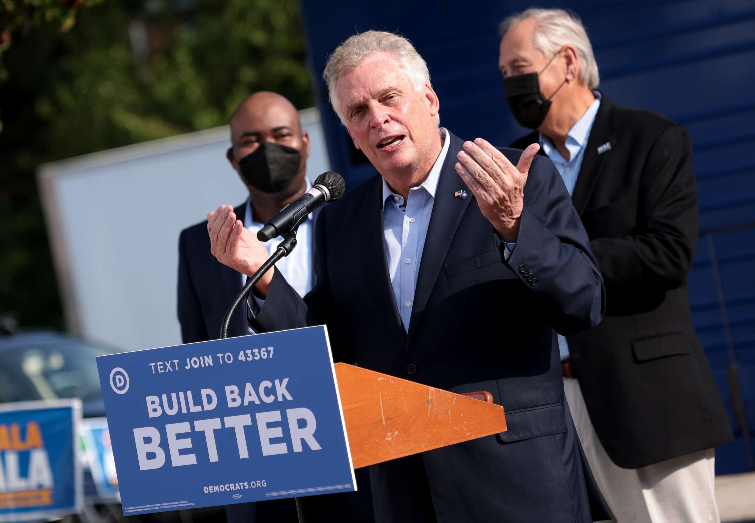
[[(207, 232), (210, 235), (210, 252), (217, 261), (245, 275), (254, 275), (270, 257), (265, 245), (249, 229), (236, 220), (231, 205), (220, 205), (207, 215)], [(257, 281), (257, 294), (267, 296), (275, 267)]]

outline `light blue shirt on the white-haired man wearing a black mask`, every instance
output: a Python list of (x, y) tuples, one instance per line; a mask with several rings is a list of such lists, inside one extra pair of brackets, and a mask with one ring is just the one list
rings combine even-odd
[[(574, 192), (574, 186), (577, 184), (577, 177), (579, 176), (579, 169), (582, 166), (582, 158), (584, 158), (584, 148), (587, 146), (587, 140), (590, 138), (590, 131), (595, 123), (595, 115), (598, 112), (600, 106), (600, 93), (593, 91), (595, 94), (595, 101), (587, 108), (577, 123), (569, 129), (569, 135), (566, 138), (566, 150), (569, 151), (569, 160), (565, 159), (558, 149), (553, 146), (553, 142), (550, 138), (544, 134), (540, 134), (540, 146), (543, 148), (543, 152), (550, 158), (553, 165), (556, 165), (556, 169), (559, 170), (559, 174), (564, 180), (566, 189), (569, 191), (569, 196)], [(566, 338), (561, 334), (559, 337), (559, 352), (561, 353), (561, 359), (565, 359), (569, 356), (569, 344), (566, 342)]]

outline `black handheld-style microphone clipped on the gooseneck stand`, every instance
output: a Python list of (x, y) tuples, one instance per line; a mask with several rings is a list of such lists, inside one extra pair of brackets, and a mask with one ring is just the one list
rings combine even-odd
[(312, 189), (305, 192), (296, 201), (286, 205), (282, 211), (276, 214), (262, 229), (257, 232), (260, 242), (267, 242), (270, 238), (285, 235), (294, 227), (307, 219), (312, 211), (325, 202), (335, 202), (344, 195), (346, 182), (341, 174), (328, 171), (322, 173), (315, 180)]

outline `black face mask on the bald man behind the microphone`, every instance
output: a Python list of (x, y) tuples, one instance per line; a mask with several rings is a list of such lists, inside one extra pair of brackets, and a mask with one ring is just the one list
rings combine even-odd
[(244, 181), (262, 192), (288, 189), (300, 172), (301, 153), (293, 147), (263, 142), (244, 158), (239, 168)]

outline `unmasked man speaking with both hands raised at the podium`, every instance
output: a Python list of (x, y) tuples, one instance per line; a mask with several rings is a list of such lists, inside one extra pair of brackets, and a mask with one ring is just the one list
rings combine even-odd
[[(371, 466), (377, 521), (605, 519), (553, 334), (600, 321), (602, 277), (558, 171), (538, 145), (439, 128), (427, 65), (390, 32), (341, 44), (325, 81), (379, 174), (320, 214), (313, 290), (302, 300), (271, 270), (250, 325), (326, 324), (337, 361), (504, 406), (507, 432)], [(232, 208), (208, 220), (222, 263), (251, 275), (267, 260)]]

